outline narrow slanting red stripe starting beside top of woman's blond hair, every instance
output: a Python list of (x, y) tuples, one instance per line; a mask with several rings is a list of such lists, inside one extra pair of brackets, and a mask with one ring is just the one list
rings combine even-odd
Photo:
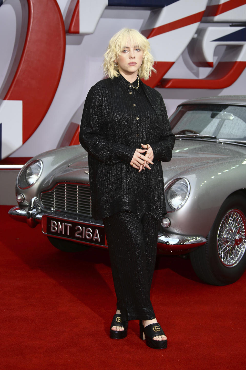
[[(155, 27), (150, 31), (148, 37), (147, 36), (146, 37), (147, 38), (154, 37), (162, 33), (176, 30), (177, 28), (189, 26), (190, 24), (193, 24), (193, 23), (198, 23), (201, 21), (203, 14), (204, 14), (204, 10), (200, 11), (199, 13), (192, 14), (191, 16), (184, 17), (176, 21), (163, 24), (162, 26), (159, 26), (159, 27)], [(145, 35), (146, 33), (148, 34), (147, 30), (143, 30), (143, 33)]]

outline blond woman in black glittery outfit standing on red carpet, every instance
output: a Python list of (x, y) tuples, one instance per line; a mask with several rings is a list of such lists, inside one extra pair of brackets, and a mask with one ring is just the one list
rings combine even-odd
[(149, 42), (124, 28), (104, 54), (108, 78), (91, 87), (80, 144), (88, 152), (92, 216), (103, 219), (117, 296), (110, 337), (140, 320), (149, 347), (167, 347), (150, 302), (158, 227), (166, 213), (160, 161), (170, 161), (171, 133), (162, 95), (143, 84), (153, 68)]

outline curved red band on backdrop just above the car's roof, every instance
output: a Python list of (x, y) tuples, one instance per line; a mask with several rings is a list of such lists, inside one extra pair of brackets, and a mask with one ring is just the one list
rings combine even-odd
[(186, 89), (222, 89), (231, 86), (246, 68), (246, 62), (219, 62), (214, 71), (204, 79), (164, 79), (159, 87)]

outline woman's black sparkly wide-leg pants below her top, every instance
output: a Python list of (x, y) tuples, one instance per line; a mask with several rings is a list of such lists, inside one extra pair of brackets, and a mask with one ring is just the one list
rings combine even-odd
[(122, 211), (104, 218), (103, 224), (122, 320), (154, 319), (150, 286), (159, 221), (150, 212), (139, 220), (135, 213)]

